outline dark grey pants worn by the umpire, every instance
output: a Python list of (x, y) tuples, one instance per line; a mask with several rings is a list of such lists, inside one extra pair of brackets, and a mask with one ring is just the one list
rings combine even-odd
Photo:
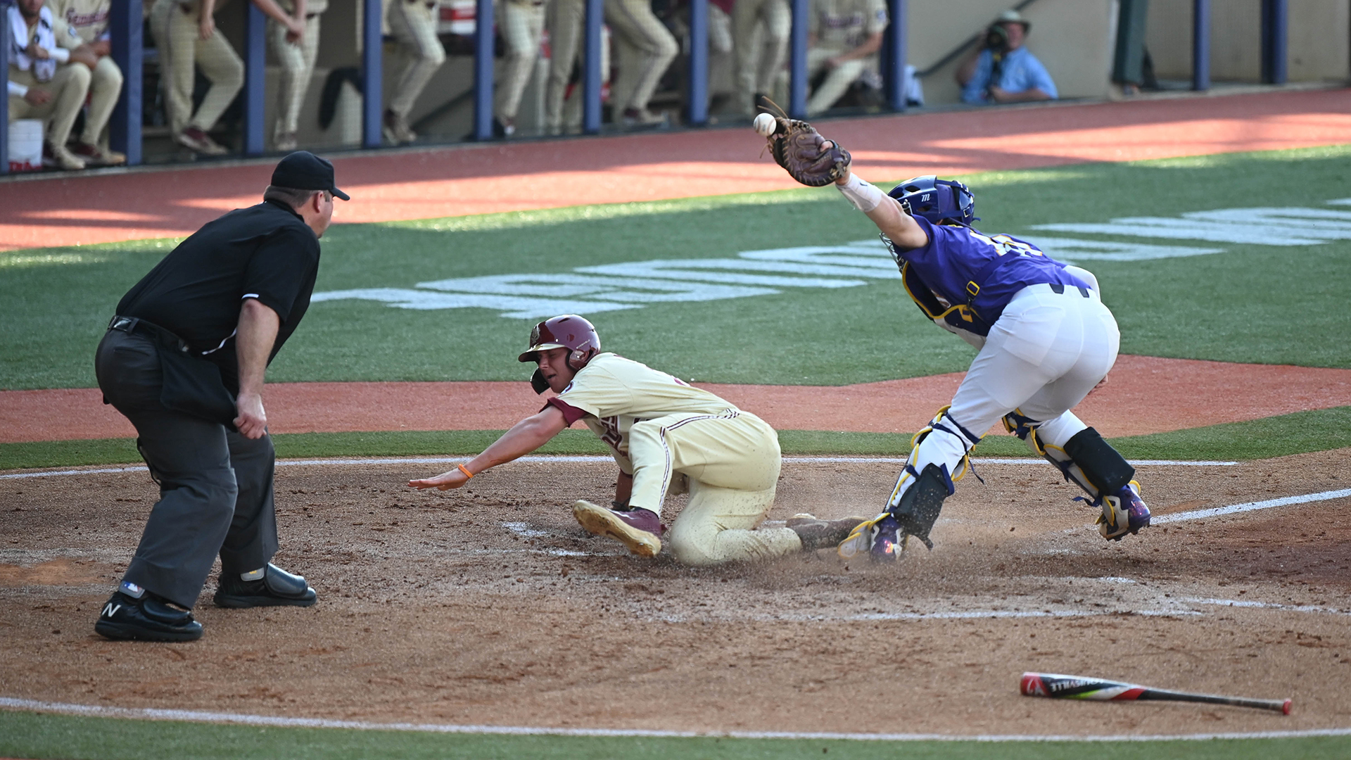
[(277, 552), (272, 437), (249, 440), (166, 408), (149, 335), (108, 330), (95, 372), (104, 399), (136, 427), (136, 448), (159, 483), (159, 502), (123, 580), (190, 609), (216, 554), (222, 573), (266, 565)]

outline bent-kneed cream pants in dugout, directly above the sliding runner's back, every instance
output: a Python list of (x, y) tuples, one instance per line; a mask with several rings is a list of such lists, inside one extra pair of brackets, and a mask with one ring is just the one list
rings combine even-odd
[(605, 0), (605, 20), (615, 30), (619, 78), (611, 88), (616, 118), (628, 108), (647, 108), (680, 46), (653, 14), (651, 0)]

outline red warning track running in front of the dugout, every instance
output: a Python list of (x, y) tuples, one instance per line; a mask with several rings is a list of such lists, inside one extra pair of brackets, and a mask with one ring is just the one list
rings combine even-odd
[[(859, 173), (1028, 169), (1351, 143), (1351, 91), (955, 111), (820, 123)], [(339, 222), (797, 187), (748, 128), (466, 145), (338, 158)], [(255, 203), (272, 160), (0, 183), (0, 250), (188, 235)]]

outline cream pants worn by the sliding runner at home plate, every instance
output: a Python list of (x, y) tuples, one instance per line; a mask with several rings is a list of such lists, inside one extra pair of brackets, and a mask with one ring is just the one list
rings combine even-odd
[(754, 530), (774, 504), (781, 454), (774, 429), (754, 414), (671, 414), (628, 430), (634, 462), (630, 506), (661, 514), (671, 479), (684, 475), (689, 503), (665, 544), (682, 564), (716, 565), (800, 552), (786, 527)]

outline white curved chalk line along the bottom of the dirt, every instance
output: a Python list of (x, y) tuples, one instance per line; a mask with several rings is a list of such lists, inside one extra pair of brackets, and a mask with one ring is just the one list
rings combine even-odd
[(1209, 741), (1216, 738), (1305, 738), (1351, 736), (1347, 729), (1305, 729), (1292, 732), (1194, 733), (1156, 736), (1059, 736), (1059, 734), (928, 734), (928, 733), (834, 733), (834, 732), (676, 732), (650, 729), (563, 729), (547, 726), (473, 726), (444, 723), (374, 723), (369, 721), (332, 721), (327, 718), (282, 718), (242, 713), (205, 713), (199, 710), (158, 710), (153, 707), (104, 707), (101, 705), (68, 705), (0, 696), (0, 707), (36, 710), (104, 718), (139, 718), (151, 721), (190, 721), (203, 723), (243, 723), (309, 729), (401, 730), (422, 733), (497, 734), (497, 736), (577, 736), (577, 737), (644, 737), (644, 738), (796, 738), (844, 741)]

